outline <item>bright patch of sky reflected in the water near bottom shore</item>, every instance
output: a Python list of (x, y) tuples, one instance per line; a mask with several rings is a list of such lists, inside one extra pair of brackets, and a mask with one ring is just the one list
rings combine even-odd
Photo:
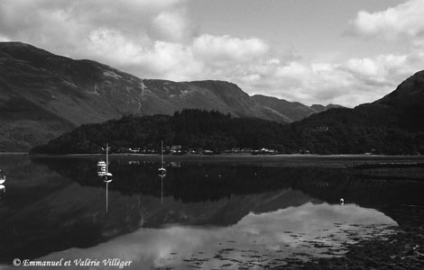
[[(131, 267), (238, 269), (283, 265), (290, 257), (341, 255), (358, 238), (387, 233), (395, 222), (383, 213), (356, 205), (305, 203), (262, 214), (249, 213), (230, 227), (171, 225), (138, 229), (105, 244), (72, 248), (42, 259), (88, 257), (131, 260)], [(75, 267), (78, 268), (78, 267)]]

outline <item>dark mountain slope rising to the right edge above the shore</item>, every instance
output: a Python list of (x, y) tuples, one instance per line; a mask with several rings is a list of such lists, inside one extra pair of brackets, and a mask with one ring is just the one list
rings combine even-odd
[(354, 109), (335, 108), (291, 124), (303, 148), (315, 153), (424, 153), (424, 71), (391, 94)]

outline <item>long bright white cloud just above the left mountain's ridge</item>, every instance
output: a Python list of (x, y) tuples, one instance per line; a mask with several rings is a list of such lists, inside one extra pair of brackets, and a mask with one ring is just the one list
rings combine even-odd
[[(246, 62), (261, 58), (268, 49), (257, 38), (201, 35), (184, 44), (151, 40), (148, 36), (131, 39), (122, 31), (105, 28), (90, 32), (86, 48), (88, 55), (134, 75), (177, 81), (235, 79), (232, 75), (243, 71)], [(250, 76), (250, 81), (258, 81), (259, 77)]]

